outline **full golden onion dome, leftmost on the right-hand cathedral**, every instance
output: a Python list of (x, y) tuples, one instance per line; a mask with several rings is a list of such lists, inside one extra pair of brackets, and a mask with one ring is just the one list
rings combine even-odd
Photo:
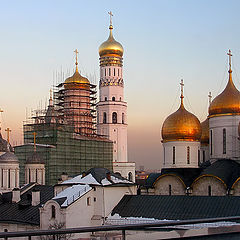
[(181, 100), (179, 109), (168, 116), (163, 123), (163, 142), (200, 141), (200, 138), (201, 124), (195, 115), (184, 108), (183, 100)]

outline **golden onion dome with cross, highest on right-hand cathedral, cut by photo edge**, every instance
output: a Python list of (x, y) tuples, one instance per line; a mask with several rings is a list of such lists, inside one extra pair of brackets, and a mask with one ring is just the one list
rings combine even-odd
[[(231, 51), (229, 50), (229, 54)], [(219, 94), (209, 107), (209, 117), (221, 115), (240, 115), (240, 92), (235, 87), (232, 80), (231, 58), (229, 60), (229, 79), (227, 86), (221, 94)]]

